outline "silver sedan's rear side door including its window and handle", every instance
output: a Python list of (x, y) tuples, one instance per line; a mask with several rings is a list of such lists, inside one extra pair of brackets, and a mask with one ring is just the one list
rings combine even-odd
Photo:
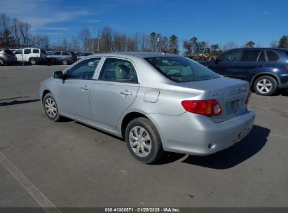
[(94, 122), (115, 130), (125, 109), (134, 102), (138, 89), (139, 83), (132, 61), (106, 58), (98, 81), (90, 88), (90, 111)]

